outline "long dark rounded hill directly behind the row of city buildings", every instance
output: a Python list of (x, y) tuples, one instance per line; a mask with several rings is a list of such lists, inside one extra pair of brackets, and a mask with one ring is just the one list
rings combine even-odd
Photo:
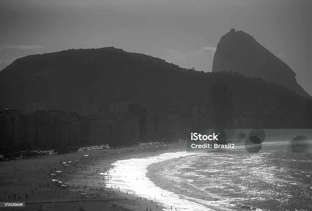
[[(230, 82), (235, 111), (311, 113), (311, 100), (279, 84), (238, 73), (204, 73), (163, 59), (113, 47), (29, 55), (0, 72), (1, 107), (26, 111), (43, 102), (49, 110), (81, 111), (92, 103), (100, 113), (110, 102), (129, 101), (148, 112), (203, 106), (208, 83)], [(269, 93), (269, 94), (268, 94)]]

